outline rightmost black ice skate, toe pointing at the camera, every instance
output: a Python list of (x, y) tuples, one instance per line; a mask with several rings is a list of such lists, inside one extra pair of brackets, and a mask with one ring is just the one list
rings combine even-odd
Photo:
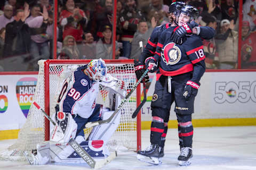
[(184, 147), (181, 148), (180, 156), (178, 157), (180, 166), (188, 166), (191, 164), (192, 148)]

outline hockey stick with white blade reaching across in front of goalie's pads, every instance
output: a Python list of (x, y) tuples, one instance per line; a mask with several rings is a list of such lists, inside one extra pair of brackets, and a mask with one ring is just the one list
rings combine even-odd
[(146, 76), (146, 74), (148, 73), (148, 71), (152, 67), (153, 67), (153, 65), (150, 65), (148, 67), (148, 69), (141, 75), (140, 79), (133, 85), (133, 87), (132, 87), (131, 91), (129, 92), (129, 94), (127, 94), (125, 96), (125, 98), (121, 100), (121, 104), (119, 104), (119, 106), (117, 107), (116, 111), (107, 120), (88, 122), (88, 123), (85, 124), (85, 128), (92, 128), (93, 126), (97, 126), (99, 124), (109, 123), (113, 119), (113, 117), (118, 113), (118, 111), (121, 109), (121, 107), (126, 103), (127, 99), (132, 95), (132, 92), (137, 88), (139, 83), (143, 80), (143, 78)]

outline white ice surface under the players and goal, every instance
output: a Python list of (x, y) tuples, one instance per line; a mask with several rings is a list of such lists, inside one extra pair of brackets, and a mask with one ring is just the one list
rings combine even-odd
[[(142, 131), (142, 149), (149, 145), (149, 130)], [(15, 140), (0, 141), (0, 150), (7, 148)], [(192, 164), (178, 165), (179, 140), (177, 129), (169, 129), (166, 135), (163, 164), (149, 165), (136, 159), (134, 151), (122, 149), (117, 158), (102, 169), (179, 169), (179, 170), (256, 170), (256, 126), (232, 126), (214, 128), (194, 128)], [(90, 169), (79, 165), (39, 165), (27, 162), (0, 161), (0, 169)]]

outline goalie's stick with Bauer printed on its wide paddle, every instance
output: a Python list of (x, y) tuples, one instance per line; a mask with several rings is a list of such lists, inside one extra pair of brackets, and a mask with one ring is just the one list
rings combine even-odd
[[(36, 108), (44, 114), (44, 116), (54, 125), (58, 126), (56, 122), (52, 120), (52, 118), (45, 113), (45, 111), (36, 103), (36, 101), (33, 102), (33, 104), (36, 106)], [(68, 144), (76, 151), (76, 153), (81, 156), (85, 160), (85, 162), (91, 167), (91, 168), (101, 168), (102, 166), (106, 165), (107, 163), (111, 162), (116, 157), (116, 151), (110, 154), (107, 158), (95, 162), (95, 160), (82, 148), (75, 139), (71, 138), (68, 142)]]

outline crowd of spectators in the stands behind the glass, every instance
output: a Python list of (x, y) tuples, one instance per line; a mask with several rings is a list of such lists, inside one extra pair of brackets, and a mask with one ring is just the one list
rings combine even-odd
[[(175, 1), (175, 0), (173, 0)], [(216, 30), (203, 40), (207, 69), (237, 69), (238, 0), (188, 0), (196, 22)], [(138, 59), (139, 41), (169, 23), (172, 1), (117, 0), (115, 56)], [(57, 58), (113, 58), (113, 0), (58, 0)], [(53, 0), (0, 2), (0, 71), (38, 71), (53, 58)], [(242, 69), (256, 69), (256, 1), (243, 0)], [(11, 66), (10, 66), (11, 65)]]

